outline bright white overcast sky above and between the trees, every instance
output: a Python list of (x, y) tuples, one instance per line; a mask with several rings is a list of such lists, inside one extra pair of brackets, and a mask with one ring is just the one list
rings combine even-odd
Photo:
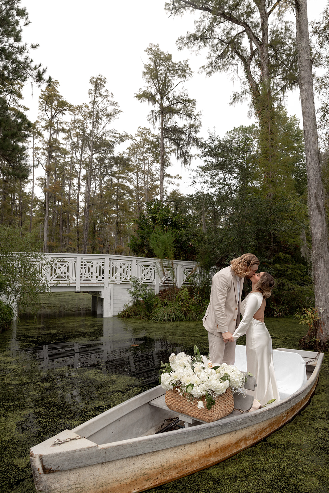
[[(113, 122), (113, 128), (135, 134), (139, 126), (150, 127), (147, 122), (149, 107), (134, 95), (144, 87), (143, 63), (147, 61), (145, 49), (149, 43), (159, 43), (160, 49), (172, 53), (173, 60), (189, 59), (195, 72), (203, 64), (203, 54), (196, 56), (187, 50), (178, 52), (176, 39), (193, 29), (194, 14), (168, 17), (164, 11), (165, 0), (21, 0), (31, 21), (24, 29), (23, 40), (39, 43), (31, 52), (33, 60), (48, 68), (60, 83), (60, 93), (73, 105), (88, 102), (89, 79), (99, 73), (108, 79), (108, 89), (123, 111)], [(309, 21), (319, 17), (325, 0), (308, 0)], [(216, 73), (207, 78), (195, 73), (185, 84), (189, 96), (197, 101), (202, 112), (201, 136), (207, 138), (208, 129), (216, 128), (220, 136), (239, 125), (250, 125), (247, 103), (228, 106), (233, 91), (229, 74)], [(31, 96), (31, 84), (24, 89), (24, 104), (32, 121), (37, 119), (39, 91)], [(294, 91), (287, 100), (289, 114), (301, 119), (299, 94)], [(177, 163), (168, 169), (183, 179), (180, 189), (187, 189), (189, 171)]]

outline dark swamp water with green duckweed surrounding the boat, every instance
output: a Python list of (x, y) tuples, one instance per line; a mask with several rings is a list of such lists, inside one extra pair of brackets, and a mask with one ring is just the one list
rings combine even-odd
[[(201, 323), (91, 314), (88, 294), (44, 297), (36, 321), (0, 334), (0, 492), (35, 492), (29, 448), (157, 385), (173, 351), (208, 352)], [(292, 319), (267, 319), (273, 347), (296, 348)], [(241, 341), (241, 343), (244, 343)], [(310, 404), (254, 447), (150, 492), (329, 492), (329, 354)]]

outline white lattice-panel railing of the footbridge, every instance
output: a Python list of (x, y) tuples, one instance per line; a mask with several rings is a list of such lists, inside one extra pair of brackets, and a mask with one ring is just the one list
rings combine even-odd
[(197, 270), (196, 262), (184, 260), (161, 261), (156, 258), (123, 255), (46, 253), (40, 266), (49, 286), (76, 286), (79, 291), (88, 286), (109, 283), (131, 283), (131, 277), (154, 285), (158, 291), (164, 285), (181, 287), (189, 284)]

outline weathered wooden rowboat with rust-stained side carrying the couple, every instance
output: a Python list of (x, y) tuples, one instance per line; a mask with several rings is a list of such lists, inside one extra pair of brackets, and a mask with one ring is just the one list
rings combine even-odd
[[(240, 352), (245, 351), (241, 348), (244, 347), (240, 347)], [(281, 358), (283, 372), (282, 358), (291, 367), (291, 359), (297, 357), (306, 363), (307, 374), (301, 387), (287, 397), (283, 394), (278, 403), (243, 414), (235, 411), (213, 423), (180, 416), (184, 428), (156, 434), (164, 420), (177, 413), (166, 407), (161, 386), (151, 388), (33, 447), (30, 458), (37, 492), (141, 492), (214, 465), (254, 445), (306, 406), (323, 361), (323, 353), (283, 348), (275, 353)], [(310, 361), (313, 358), (316, 359)], [(241, 368), (243, 363), (237, 366)], [(289, 375), (288, 378), (294, 380)], [(249, 401), (254, 400), (252, 393), (249, 391)], [(241, 409), (241, 396), (235, 404)], [(75, 439), (79, 436), (85, 438)], [(53, 446), (56, 439), (69, 441)]]

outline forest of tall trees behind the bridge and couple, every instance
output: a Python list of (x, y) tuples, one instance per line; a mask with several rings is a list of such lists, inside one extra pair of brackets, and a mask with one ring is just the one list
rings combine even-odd
[[(184, 2), (176, 3), (184, 7)], [(240, 4), (237, 14), (247, 16), (252, 3)], [(121, 117), (120, 106), (106, 77), (98, 74), (98, 70), (91, 74), (85, 100), (73, 104), (62, 95), (56, 73), (49, 77), (48, 72), (30, 60), (33, 47), (24, 44), (23, 27), (28, 23), (28, 15), (20, 5), (15, 0), (1, 1), (1, 44), (6, 48), (1, 52), (0, 81), (1, 123), (5, 130), (0, 155), (3, 230), (15, 229), (20, 238), (27, 239), (31, 251), (147, 257), (158, 256), (154, 241), (150, 241), (155, 234), (158, 243), (170, 246), (170, 256), (197, 260), (206, 273), (251, 251), (260, 259), (261, 270), (272, 273), (277, 280), (270, 315), (285, 316), (314, 306), (303, 132), (299, 120), (289, 115), (285, 106), (285, 97), (296, 87), (297, 77), (289, 5), (278, 6), (270, 19), (270, 70), (265, 81), (268, 87), (259, 54), (252, 48), (248, 55), (243, 32), (225, 28), (218, 42), (216, 30), (221, 26), (211, 25), (210, 17), (210, 42), (202, 32), (205, 19), (192, 12), (189, 21), (191, 17), (196, 21), (195, 27), (193, 23), (190, 27), (194, 34), (184, 37), (186, 30), (180, 33), (183, 37), (178, 44), (184, 54), (190, 49), (208, 53), (202, 77), (219, 77), (220, 72), (224, 72), (226, 79), (227, 74), (235, 77), (235, 88), (238, 85), (239, 91), (233, 91), (230, 83), (229, 87), (224, 82), (223, 86), (217, 83), (216, 93), (208, 104), (215, 107), (222, 99), (224, 87), (235, 105), (220, 111), (219, 125), (225, 121), (227, 128), (228, 115), (234, 111), (236, 122), (221, 135), (216, 128), (208, 135), (204, 129), (200, 132), (205, 109), (204, 100), (201, 106), (198, 103), (198, 94), (202, 93), (204, 98), (201, 74), (197, 75), (200, 89), (190, 96), (192, 86), (188, 86), (188, 81), (195, 75), (188, 63), (180, 61), (180, 53), (172, 58), (162, 51), (156, 39), (148, 47), (146, 43), (146, 53), (140, 54), (143, 79), (137, 78), (137, 98), (132, 104), (135, 119), (139, 111), (134, 105), (144, 106), (141, 111), (146, 110), (149, 115), (148, 125), (144, 113), (133, 135), (113, 128)], [(83, 14), (86, 18), (81, 10), (79, 16)], [(248, 16), (255, 15), (252, 10)], [(325, 12), (321, 20), (323, 25), (326, 15)], [(172, 2), (167, 5), (165, 18), (171, 25), (177, 19), (172, 13)], [(67, 23), (68, 19), (63, 19), (63, 26)], [(261, 31), (256, 15), (254, 29), (258, 34)], [(327, 47), (322, 45), (322, 52), (319, 50), (316, 24), (311, 26), (312, 30), (314, 67), (320, 68), (320, 75), (326, 74)], [(169, 36), (167, 30), (166, 33)], [(232, 44), (233, 39), (240, 45)], [(104, 50), (110, 64), (112, 51), (103, 46), (98, 49)], [(116, 57), (120, 56), (119, 47), (114, 51)], [(249, 77), (244, 65), (247, 55), (252, 56)], [(90, 56), (85, 56), (86, 65), (88, 59), (91, 60)], [(121, 65), (125, 66), (123, 62)], [(121, 65), (113, 65), (119, 80)], [(157, 98), (160, 90), (154, 91), (155, 69), (159, 80), (162, 77), (162, 100)], [(134, 75), (130, 78), (134, 80)], [(251, 89), (252, 79), (256, 92)], [(31, 81), (35, 100), (38, 95), (38, 111), (32, 122), (24, 106), (27, 97), (22, 99), (24, 91), (31, 89)], [(77, 85), (76, 80), (74, 84)], [(327, 100), (321, 76), (316, 78), (316, 84), (320, 94), (321, 159), (328, 222)], [(246, 115), (239, 118), (241, 109), (236, 108), (241, 107), (245, 113), (249, 111), (252, 124), (246, 125)], [(193, 155), (197, 158), (191, 169)], [(192, 193), (184, 189), (182, 193), (175, 186), (181, 181), (172, 171), (172, 163), (176, 162), (192, 170)], [(184, 176), (186, 180), (188, 175)]]

